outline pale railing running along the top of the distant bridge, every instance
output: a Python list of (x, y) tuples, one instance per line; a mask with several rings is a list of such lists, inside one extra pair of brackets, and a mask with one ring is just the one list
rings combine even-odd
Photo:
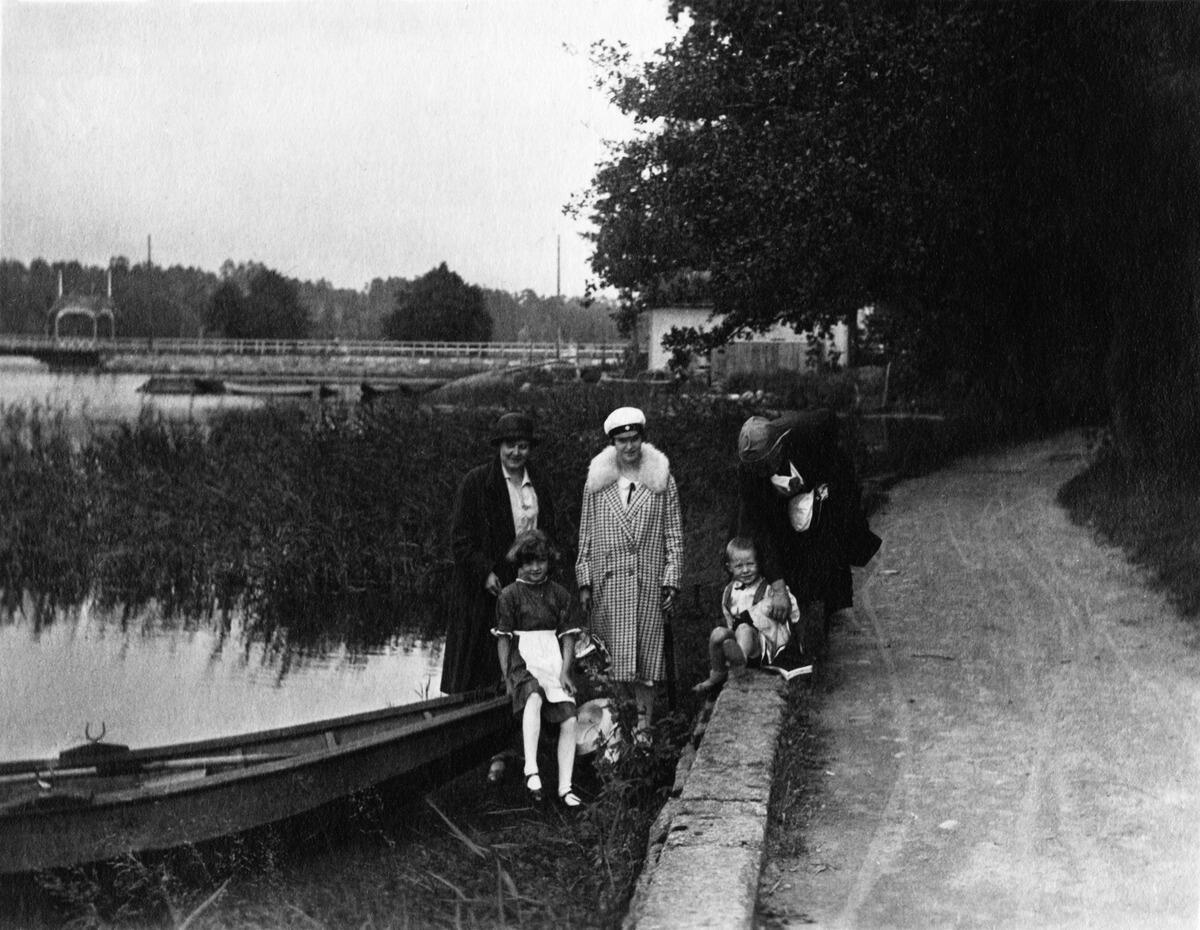
[(317, 358), (428, 358), (528, 361), (618, 361), (622, 343), (388, 342), (383, 340), (89, 338), (0, 334), (0, 350), (100, 352), (108, 355), (286, 355)]

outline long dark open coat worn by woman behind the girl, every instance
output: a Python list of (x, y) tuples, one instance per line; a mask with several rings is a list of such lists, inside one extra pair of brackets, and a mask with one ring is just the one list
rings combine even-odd
[[(551, 487), (533, 466), (526, 466), (526, 473), (538, 493), (538, 529), (554, 539)], [(496, 456), (463, 475), (455, 494), (450, 529), (455, 569), (446, 596), (442, 662), (442, 690), (448, 695), (496, 688), (500, 683), (500, 664), (491, 634), (496, 598), (487, 593), (484, 582), (493, 571), (502, 587), (516, 580), (516, 566), (504, 558), (515, 536), (504, 469)]]

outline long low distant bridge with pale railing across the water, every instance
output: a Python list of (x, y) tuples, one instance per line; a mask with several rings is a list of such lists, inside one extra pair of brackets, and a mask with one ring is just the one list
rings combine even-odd
[(226, 340), (226, 338), (91, 338), (84, 336), (28, 336), (0, 334), (0, 355), (24, 355), (53, 367), (102, 368), (114, 359), (217, 358), (295, 360), (307, 364), (353, 366), (395, 360), (455, 364), (538, 365), (554, 361), (601, 365), (620, 361), (624, 343), (575, 342), (386, 342), (342, 340)]

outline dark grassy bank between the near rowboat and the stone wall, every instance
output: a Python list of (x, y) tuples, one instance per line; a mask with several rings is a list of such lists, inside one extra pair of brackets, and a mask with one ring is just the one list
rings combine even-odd
[[(641, 756), (626, 775), (665, 769)], [(10, 894), (0, 924), (28, 930), (283, 928), (617, 928), (654, 810), (604, 797), (634, 779), (583, 781), (582, 814), (533, 806), (520, 779), (484, 788), (476, 769), (431, 793), (365, 796), (319, 832), (264, 832), (203, 857), (128, 859), (41, 876)], [(638, 781), (644, 791), (652, 781)]]

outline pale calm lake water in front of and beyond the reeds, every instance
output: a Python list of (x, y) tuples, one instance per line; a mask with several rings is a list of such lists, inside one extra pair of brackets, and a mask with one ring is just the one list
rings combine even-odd
[[(114, 422), (144, 406), (168, 416), (262, 403), (252, 397), (150, 396), (142, 374), (52, 373), (0, 359), (0, 406), (66, 408)], [(52, 623), (26, 605), (0, 618), (0, 758), (52, 756), (95, 736), (131, 746), (202, 739), (412, 703), (439, 694), (442, 644), (396, 637), (374, 652), (280, 656), (203, 620), (132, 618), (84, 604)]]

